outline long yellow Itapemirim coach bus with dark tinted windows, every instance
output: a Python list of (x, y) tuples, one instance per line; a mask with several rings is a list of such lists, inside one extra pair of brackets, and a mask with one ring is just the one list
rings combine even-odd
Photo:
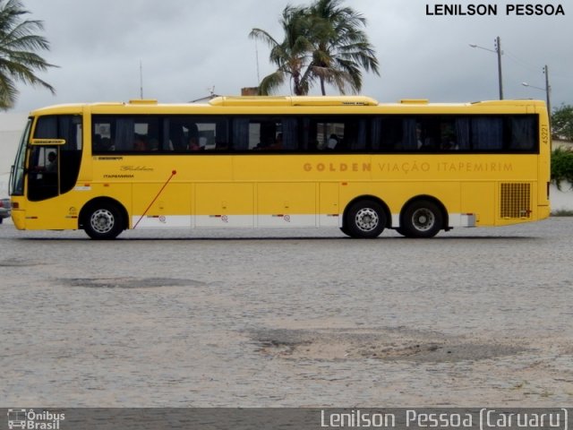
[(542, 101), (219, 97), (30, 113), (19, 229), (332, 227), (407, 237), (549, 216)]

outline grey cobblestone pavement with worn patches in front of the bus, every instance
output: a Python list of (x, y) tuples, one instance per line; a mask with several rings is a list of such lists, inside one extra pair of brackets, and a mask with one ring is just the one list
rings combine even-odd
[(570, 405), (572, 228), (4, 223), (0, 407)]

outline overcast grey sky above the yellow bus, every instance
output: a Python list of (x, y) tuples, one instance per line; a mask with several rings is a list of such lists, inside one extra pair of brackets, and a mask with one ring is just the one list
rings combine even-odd
[[(211, 91), (238, 95), (275, 70), (269, 47), (249, 39), (252, 28), (282, 39), (278, 19), (286, 4), (312, 0), (21, 1), (29, 19), (44, 22), (50, 51), (41, 55), (58, 67), (38, 75), (56, 95), (20, 84), (13, 112), (138, 99), (141, 82), (143, 97), (159, 102), (187, 102)], [(545, 99), (547, 65), (552, 107), (573, 104), (573, 2), (538, 0), (560, 4), (565, 15), (516, 16), (506, 13), (508, 5), (535, 0), (456, 0), (464, 8), (494, 4), (498, 13), (441, 16), (434, 11), (442, 1), (346, 0), (366, 18), (381, 64), (380, 76), (364, 73), (361, 94), (380, 102), (498, 99), (498, 60), (491, 51), (500, 37), (506, 99)], [(287, 85), (280, 91), (290, 93)]]

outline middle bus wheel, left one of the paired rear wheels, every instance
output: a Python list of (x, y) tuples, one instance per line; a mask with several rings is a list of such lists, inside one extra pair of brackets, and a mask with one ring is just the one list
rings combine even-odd
[(346, 211), (345, 230), (351, 237), (371, 239), (386, 227), (386, 213), (379, 202), (361, 200)]

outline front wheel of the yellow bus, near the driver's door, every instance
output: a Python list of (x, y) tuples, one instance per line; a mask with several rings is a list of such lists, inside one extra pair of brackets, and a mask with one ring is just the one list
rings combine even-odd
[(92, 239), (115, 239), (124, 231), (124, 217), (120, 208), (111, 202), (92, 204), (83, 219), (83, 229)]

